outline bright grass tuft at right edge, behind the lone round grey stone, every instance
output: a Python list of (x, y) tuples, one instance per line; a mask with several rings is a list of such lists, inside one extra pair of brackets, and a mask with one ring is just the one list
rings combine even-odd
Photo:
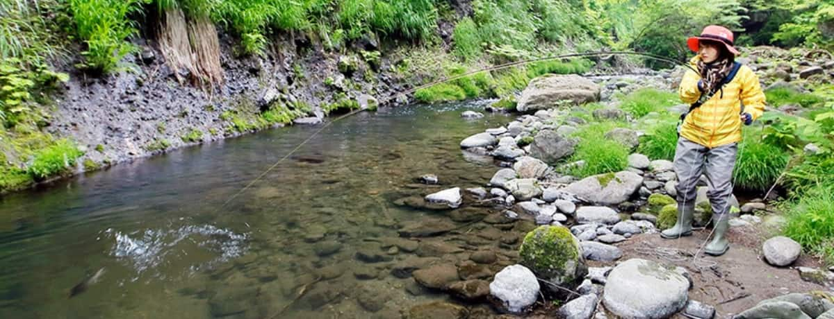
[(786, 205), (785, 236), (834, 264), (834, 184), (821, 185)]

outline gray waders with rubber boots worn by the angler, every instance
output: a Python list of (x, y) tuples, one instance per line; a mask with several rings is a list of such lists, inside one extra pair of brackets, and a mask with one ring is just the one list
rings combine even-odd
[(706, 197), (710, 199), (715, 225), (715, 237), (704, 251), (716, 256), (727, 251), (730, 247), (725, 237), (730, 218), (728, 199), (732, 195), (732, 171), (736, 166), (737, 152), (737, 143), (708, 148), (684, 137), (678, 138), (675, 150), (678, 217), (675, 226), (661, 232), (661, 237), (677, 238), (692, 234), (692, 217), (695, 215), (698, 194), (696, 184), (701, 174), (704, 174), (709, 186)]

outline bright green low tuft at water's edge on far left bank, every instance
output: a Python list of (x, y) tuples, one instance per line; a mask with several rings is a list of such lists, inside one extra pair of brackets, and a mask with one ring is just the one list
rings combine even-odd
[(75, 160), (82, 155), (83, 152), (79, 151), (73, 142), (60, 140), (35, 153), (28, 172), (36, 180), (53, 177), (74, 167)]

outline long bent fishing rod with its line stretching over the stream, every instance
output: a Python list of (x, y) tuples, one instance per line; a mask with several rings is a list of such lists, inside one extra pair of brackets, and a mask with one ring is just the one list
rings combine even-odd
[[(692, 70), (693, 72), (696, 72), (696, 74), (700, 75), (700, 72), (698, 72), (698, 70), (695, 67), (692, 67), (687, 62), (681, 62), (681, 61), (674, 60), (674, 59), (671, 59), (671, 58), (668, 58), (668, 57), (663, 57), (663, 56), (659, 56), (659, 55), (651, 54), (651, 53), (646, 53), (646, 52), (634, 52), (634, 51), (578, 52), (578, 53), (560, 54), (560, 55), (549, 56), (549, 57), (535, 57), (535, 58), (530, 58), (530, 59), (516, 61), (516, 62), (507, 62), (507, 63), (495, 65), (495, 66), (492, 66), (492, 67), (484, 67), (484, 68), (481, 68), (481, 69), (478, 69), (478, 70), (475, 70), (475, 71), (465, 72), (463, 74), (456, 75), (456, 76), (453, 76), (453, 77), (440, 78), (439, 80), (435, 80), (433, 82), (428, 82), (426, 84), (423, 84), (423, 85), (420, 85), (420, 86), (417, 86), (417, 87), (412, 87), (412, 88), (410, 88), (408, 90), (405, 90), (405, 91), (402, 91), (402, 92), (396, 92), (394, 94), (391, 94), (388, 97), (383, 97), (382, 99), (378, 100), (379, 101), (378, 104), (383, 105), (385, 103), (390, 102), (394, 98), (397, 98), (397, 97), (400, 97), (400, 96), (408, 96), (409, 94), (417, 92), (418, 90), (421, 90), (421, 89), (424, 89), (424, 88), (427, 88), (427, 87), (433, 87), (433, 86), (438, 85), (440, 83), (451, 82), (451, 81), (459, 80), (459, 79), (464, 78), (464, 77), (470, 77), (470, 76), (475, 75), (475, 74), (480, 73), (480, 72), (492, 72), (492, 71), (503, 70), (505, 68), (527, 65), (527, 64), (535, 63), (535, 62), (545, 62), (545, 61), (565, 59), (565, 58), (570, 58), (570, 57), (606, 57), (606, 56), (614, 56), (614, 55), (646, 57), (646, 58), (650, 58), (650, 59), (653, 59), (653, 60), (656, 60), (656, 61), (668, 62), (671, 65), (675, 65), (675, 66), (679, 65), (679, 66), (686, 67), (686, 68)], [(254, 185), (255, 182), (258, 182), (260, 179), (264, 178), (264, 176), (266, 176), (266, 174), (268, 174), (269, 172), (272, 172), (272, 170), (275, 167), (278, 167), (282, 162), (284, 162), (284, 160), (286, 160), (287, 158), (292, 156), (296, 151), (299, 150), (299, 148), (303, 147), (305, 144), (307, 144), (307, 142), (312, 140), (313, 137), (316, 137), (317, 135), (319, 135), (319, 132), (324, 131), (324, 129), (329, 127), (330, 124), (333, 124), (334, 122), (339, 122), (340, 120), (344, 119), (345, 117), (351, 117), (351, 116), (355, 115), (356, 113), (362, 112), (364, 110), (366, 110), (366, 109), (365, 108), (359, 108), (359, 109), (356, 109), (354, 111), (348, 112), (348, 113), (346, 113), (342, 116), (336, 117), (336, 119), (334, 119), (333, 121), (329, 121), (329, 122), (324, 123), (324, 125), (322, 127), (319, 127), (319, 129), (316, 130), (315, 132), (313, 132), (313, 134), (310, 134), (309, 137), (304, 139), (304, 141), (300, 142), (296, 147), (294, 147), (286, 155), (284, 155), (284, 157), (281, 157), (277, 162), (275, 162), (272, 166), (268, 167), (258, 177), (255, 177), (254, 180), (247, 183), (246, 186), (241, 188), (238, 192), (234, 193), (234, 195), (232, 195), (232, 197), (229, 197), (229, 199), (227, 199), (226, 202), (223, 203), (223, 205), (220, 205), (216, 209), (219, 210), (219, 209), (225, 207), (226, 205), (229, 204), (229, 202), (232, 202), (234, 200), (234, 198), (238, 197), (243, 192), (246, 192), (246, 190), (249, 189), (249, 187), (252, 187), (252, 185)]]

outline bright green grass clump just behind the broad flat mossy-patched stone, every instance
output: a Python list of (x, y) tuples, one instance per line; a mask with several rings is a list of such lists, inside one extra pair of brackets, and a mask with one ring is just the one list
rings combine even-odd
[(568, 172), (575, 177), (589, 177), (606, 172), (620, 172), (628, 166), (629, 150), (625, 145), (605, 137), (616, 127), (615, 122), (595, 122), (574, 132), (579, 137), (570, 162), (584, 161), (584, 165), (572, 166)]

